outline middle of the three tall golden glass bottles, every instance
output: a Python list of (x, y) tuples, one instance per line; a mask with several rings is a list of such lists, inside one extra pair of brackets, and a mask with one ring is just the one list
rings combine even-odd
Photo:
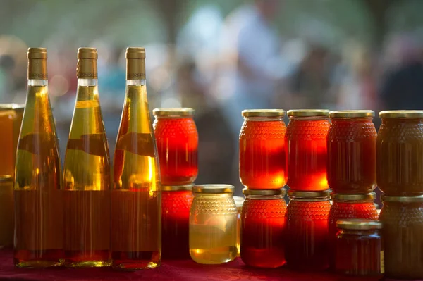
[(65, 265), (109, 266), (109, 145), (97, 88), (97, 49), (78, 49), (78, 90), (63, 167)]

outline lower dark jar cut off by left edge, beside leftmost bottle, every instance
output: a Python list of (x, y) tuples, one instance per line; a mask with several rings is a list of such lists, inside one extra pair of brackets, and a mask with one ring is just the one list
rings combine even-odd
[(13, 177), (0, 176), (0, 249), (13, 245)]

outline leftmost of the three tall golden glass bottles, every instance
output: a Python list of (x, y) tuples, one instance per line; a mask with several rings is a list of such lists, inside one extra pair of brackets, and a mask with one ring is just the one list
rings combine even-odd
[(16, 151), (13, 261), (18, 267), (61, 266), (61, 161), (47, 88), (47, 50), (30, 48), (27, 58), (27, 100)]

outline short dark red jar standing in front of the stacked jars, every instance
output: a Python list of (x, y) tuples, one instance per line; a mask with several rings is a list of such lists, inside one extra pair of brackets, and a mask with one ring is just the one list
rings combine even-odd
[[(384, 244), (377, 220), (338, 220), (336, 273), (381, 280), (384, 275)], [(360, 279), (358, 279), (360, 280)]]

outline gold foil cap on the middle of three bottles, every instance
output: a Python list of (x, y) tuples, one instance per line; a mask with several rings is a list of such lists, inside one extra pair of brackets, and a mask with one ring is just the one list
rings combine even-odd
[(78, 49), (78, 65), (76, 76), (82, 79), (97, 79), (97, 49)]

